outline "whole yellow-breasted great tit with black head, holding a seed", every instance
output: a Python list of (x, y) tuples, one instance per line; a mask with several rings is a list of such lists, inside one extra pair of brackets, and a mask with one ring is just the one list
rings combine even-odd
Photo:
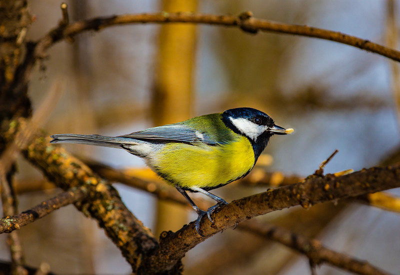
[[(160, 177), (174, 186), (197, 212), (200, 220), (227, 202), (208, 192), (248, 174), (273, 134), (286, 134), (266, 113), (234, 108), (119, 136), (54, 134), (50, 142), (83, 143), (122, 148), (142, 157)], [(198, 208), (186, 191), (200, 192), (217, 203)]]

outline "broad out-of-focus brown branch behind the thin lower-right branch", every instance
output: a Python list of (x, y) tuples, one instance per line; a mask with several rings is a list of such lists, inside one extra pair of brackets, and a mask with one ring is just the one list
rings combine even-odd
[[(329, 226), (332, 219), (339, 215), (347, 206), (348, 203), (343, 201), (338, 203), (321, 203), (309, 209), (296, 207), (267, 219), (270, 224), (289, 230), (295, 228), (296, 233), (313, 238), (320, 234), (326, 226)], [(250, 220), (244, 222), (250, 222)], [(237, 229), (240, 229), (240, 226), (237, 226)], [(239, 234), (240, 237), (238, 237)], [(243, 263), (251, 265), (250, 262), (252, 262), (254, 257), (259, 256), (260, 251), (267, 254), (268, 250), (276, 251), (274, 241), (262, 241), (253, 234), (241, 234), (237, 231), (229, 235), (232, 236), (230, 238), (227, 237), (221, 247), (209, 251), (206, 257), (202, 257), (195, 264), (186, 267), (185, 272), (190, 275), (229, 274), (229, 271), (233, 271), (234, 273), (235, 269)], [(287, 249), (279, 253), (279, 261), (276, 261), (274, 257), (268, 257), (265, 258), (264, 264), (267, 264), (269, 274), (278, 274), (297, 255), (296, 251)]]

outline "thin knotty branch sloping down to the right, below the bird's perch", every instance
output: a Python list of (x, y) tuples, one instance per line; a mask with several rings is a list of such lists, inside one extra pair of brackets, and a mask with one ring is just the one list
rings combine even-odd
[(330, 265), (363, 275), (388, 274), (366, 261), (361, 261), (328, 249), (324, 247), (319, 240), (310, 239), (305, 236), (295, 234), (282, 227), (261, 224), (255, 220), (243, 222), (238, 227), (256, 235), (280, 242), (294, 250), (303, 253), (309, 258), (312, 265), (328, 263)]

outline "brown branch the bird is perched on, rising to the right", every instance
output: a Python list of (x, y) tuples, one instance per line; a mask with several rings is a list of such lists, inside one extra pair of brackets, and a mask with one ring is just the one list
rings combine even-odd
[(168, 269), (198, 243), (244, 219), (295, 205), (307, 208), (315, 203), (394, 187), (400, 187), (400, 164), (372, 167), (342, 176), (332, 174), (323, 177), (310, 176), (304, 182), (254, 194), (222, 206), (213, 215), (214, 224), (206, 218), (201, 220), (201, 230), (206, 237), (195, 233), (193, 223), (183, 226), (175, 233), (165, 234), (160, 239), (159, 248), (148, 260), (152, 264), (155, 263), (153, 266), (156, 269)]

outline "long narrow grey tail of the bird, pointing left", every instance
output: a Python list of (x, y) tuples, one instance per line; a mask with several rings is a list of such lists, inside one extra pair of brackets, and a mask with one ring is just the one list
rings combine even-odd
[(123, 144), (137, 144), (137, 140), (133, 138), (104, 136), (98, 134), (62, 133), (53, 134), (51, 137), (53, 139), (50, 143), (80, 143), (113, 148), (120, 148)]

